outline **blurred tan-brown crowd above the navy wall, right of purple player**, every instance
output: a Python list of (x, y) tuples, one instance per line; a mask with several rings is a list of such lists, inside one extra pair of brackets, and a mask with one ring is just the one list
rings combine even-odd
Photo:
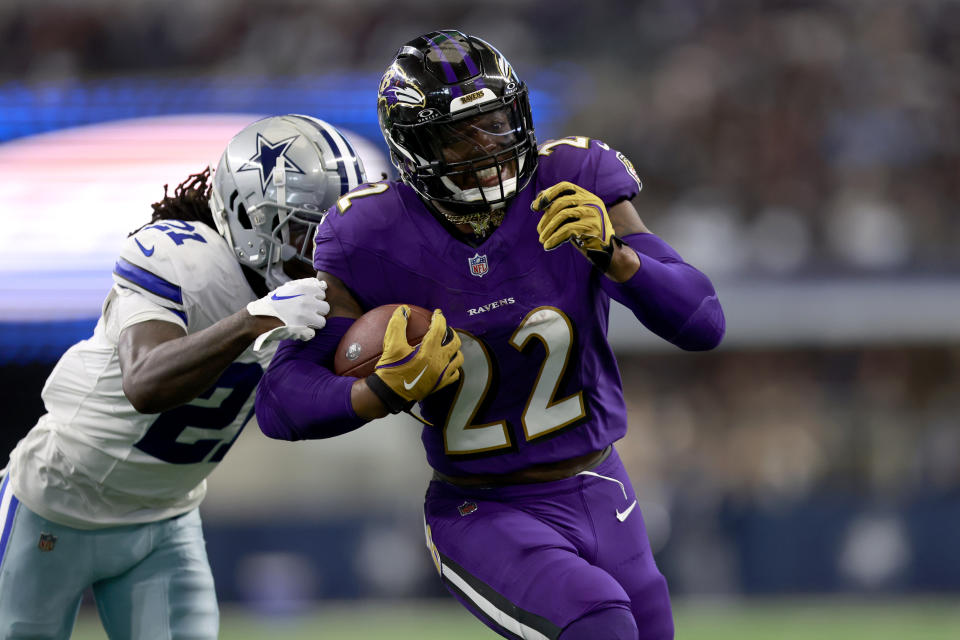
[(960, 348), (621, 358), (620, 449), (650, 499), (906, 501), (960, 491)]

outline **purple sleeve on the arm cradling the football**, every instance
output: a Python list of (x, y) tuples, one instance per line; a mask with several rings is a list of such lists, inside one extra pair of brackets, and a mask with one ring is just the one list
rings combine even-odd
[(352, 318), (328, 318), (309, 342), (284, 340), (257, 387), (257, 422), (278, 440), (331, 438), (366, 424), (350, 402), (356, 378), (333, 373), (333, 356)]

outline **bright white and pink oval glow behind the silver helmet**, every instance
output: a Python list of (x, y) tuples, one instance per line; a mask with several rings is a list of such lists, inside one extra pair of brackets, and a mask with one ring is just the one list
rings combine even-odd
[[(207, 164), (259, 114), (136, 118), (0, 144), (0, 320), (95, 318), (126, 234), (150, 204)], [(388, 171), (369, 140), (345, 132), (371, 177)]]

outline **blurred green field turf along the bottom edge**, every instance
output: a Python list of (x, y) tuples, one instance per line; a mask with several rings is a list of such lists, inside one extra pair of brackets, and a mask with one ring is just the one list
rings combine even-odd
[[(960, 595), (940, 599), (838, 598), (675, 603), (677, 640), (956, 640)], [(224, 640), (493, 640), (447, 601), (328, 604), (298, 618), (224, 608)], [(74, 640), (104, 640), (85, 609)]]

